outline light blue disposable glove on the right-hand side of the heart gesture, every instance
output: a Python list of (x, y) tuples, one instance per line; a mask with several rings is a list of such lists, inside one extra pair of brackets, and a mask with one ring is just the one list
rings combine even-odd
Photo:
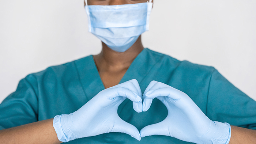
[(197, 144), (229, 143), (230, 125), (211, 121), (184, 92), (152, 81), (142, 97), (143, 111), (150, 108), (154, 98), (165, 104), (168, 115), (162, 122), (140, 130), (141, 137), (164, 135)]

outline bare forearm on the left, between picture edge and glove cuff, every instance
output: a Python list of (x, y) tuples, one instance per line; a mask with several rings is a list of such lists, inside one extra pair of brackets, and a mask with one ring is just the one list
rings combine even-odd
[(0, 130), (3, 144), (60, 144), (53, 128), (53, 118)]

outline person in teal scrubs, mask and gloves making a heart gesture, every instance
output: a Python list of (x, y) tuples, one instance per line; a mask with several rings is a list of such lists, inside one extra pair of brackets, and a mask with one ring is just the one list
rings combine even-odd
[(88, 5), (101, 53), (22, 79), (0, 105), (3, 143), (255, 141), (255, 101), (212, 67), (144, 49), (151, 2)]

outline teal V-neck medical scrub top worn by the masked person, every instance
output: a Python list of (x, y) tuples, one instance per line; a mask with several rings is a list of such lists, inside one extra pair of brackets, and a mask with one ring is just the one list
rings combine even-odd
[[(132, 62), (120, 83), (136, 79), (142, 93), (152, 80), (185, 92), (210, 120), (256, 129), (256, 102), (226, 80), (215, 68), (179, 61), (144, 49)], [(104, 90), (94, 63), (87, 56), (53, 66), (20, 80), (17, 90), (0, 105), (0, 129), (69, 114)], [(189, 109), (189, 107), (188, 107)], [(136, 113), (126, 99), (118, 115), (141, 130), (167, 116), (165, 105), (154, 99), (150, 109)], [(138, 141), (125, 133), (105, 133), (69, 141), (70, 144), (186, 144), (169, 136), (148, 136)]]

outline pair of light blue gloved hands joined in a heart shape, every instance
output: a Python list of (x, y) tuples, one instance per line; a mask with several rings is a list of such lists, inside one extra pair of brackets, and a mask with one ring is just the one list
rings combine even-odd
[[(127, 98), (133, 102), (133, 109), (138, 113), (147, 111), (153, 99), (157, 98), (166, 106), (167, 117), (157, 124), (145, 126), (139, 132), (134, 125), (122, 120), (118, 115), (118, 107)], [(219, 132), (230, 130), (230, 125), (229, 128), (224, 128), (223, 123), (209, 120), (184, 92), (152, 81), (142, 96), (139, 83), (135, 79), (102, 90), (74, 113), (56, 115), (53, 127), (62, 142), (121, 132), (137, 140), (150, 135), (165, 135), (183, 141), (205, 143), (213, 134), (224, 136), (225, 141), (225, 137), (229, 135)], [(219, 137), (218, 139), (221, 139)]]

